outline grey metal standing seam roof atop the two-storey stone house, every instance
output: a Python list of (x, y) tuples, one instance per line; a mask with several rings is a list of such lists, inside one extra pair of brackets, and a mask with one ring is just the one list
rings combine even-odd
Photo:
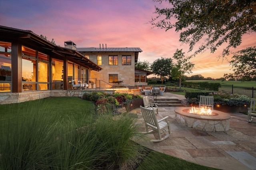
[(142, 52), (142, 50), (138, 47), (130, 48), (95, 48), (95, 47), (88, 47), (88, 48), (76, 48), (78, 52)]

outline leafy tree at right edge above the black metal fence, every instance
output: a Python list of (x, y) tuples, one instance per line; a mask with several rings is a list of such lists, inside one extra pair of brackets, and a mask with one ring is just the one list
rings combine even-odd
[[(234, 53), (230, 61), (234, 78), (250, 81), (256, 78), (256, 46)], [(225, 75), (224, 75), (225, 76)], [(227, 75), (226, 75), (227, 76)]]

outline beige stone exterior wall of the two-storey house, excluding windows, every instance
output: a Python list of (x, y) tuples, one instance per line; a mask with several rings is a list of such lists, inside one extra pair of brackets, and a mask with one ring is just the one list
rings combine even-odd
[[(97, 55), (102, 55), (102, 65), (103, 68), (100, 72), (92, 71), (90, 78), (97, 78), (97, 80), (103, 80), (108, 84), (118, 86), (116, 83), (109, 83), (109, 74), (118, 74), (118, 81), (123, 81), (120, 86), (135, 86), (135, 59), (134, 52), (80, 52), (82, 55), (89, 55), (90, 60), (97, 64)], [(118, 65), (108, 65), (108, 56), (118, 55)], [(131, 55), (132, 63), (131, 65), (122, 65), (122, 55)], [(94, 82), (95, 83), (95, 82)], [(110, 88), (111, 86), (107, 83), (100, 82), (100, 88)], [(97, 84), (99, 88), (99, 83)]]

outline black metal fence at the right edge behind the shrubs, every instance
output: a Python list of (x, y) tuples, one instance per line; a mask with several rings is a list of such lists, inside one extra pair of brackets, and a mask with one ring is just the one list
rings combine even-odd
[(221, 85), (219, 86), (219, 91), (224, 91), (230, 94), (241, 94), (249, 96), (250, 98), (256, 98), (256, 88), (254, 87)]

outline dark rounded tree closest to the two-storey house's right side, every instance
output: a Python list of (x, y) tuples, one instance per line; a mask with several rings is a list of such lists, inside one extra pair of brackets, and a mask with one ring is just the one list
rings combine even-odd
[(172, 69), (172, 59), (171, 58), (163, 58), (156, 59), (151, 64), (151, 70), (155, 75), (160, 76), (162, 80), (162, 84), (164, 83), (164, 77), (170, 76)]

